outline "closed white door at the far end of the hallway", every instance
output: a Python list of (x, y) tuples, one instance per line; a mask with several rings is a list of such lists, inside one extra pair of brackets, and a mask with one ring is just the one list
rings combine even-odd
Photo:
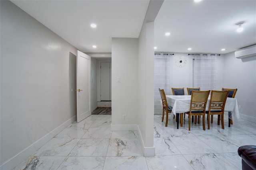
[(111, 100), (111, 63), (101, 62), (100, 63), (100, 100), (110, 101)]

